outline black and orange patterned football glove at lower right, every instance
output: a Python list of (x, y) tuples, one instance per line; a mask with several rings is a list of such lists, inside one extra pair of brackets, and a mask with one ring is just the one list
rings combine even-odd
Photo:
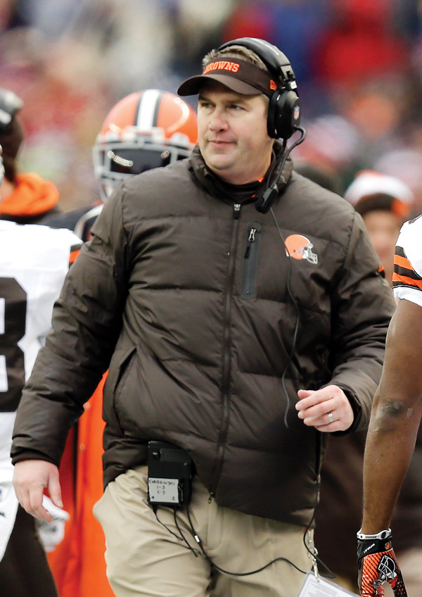
[(385, 582), (392, 586), (395, 597), (407, 597), (391, 534), (385, 539), (358, 539), (357, 567), (357, 584), (362, 597), (383, 596)]

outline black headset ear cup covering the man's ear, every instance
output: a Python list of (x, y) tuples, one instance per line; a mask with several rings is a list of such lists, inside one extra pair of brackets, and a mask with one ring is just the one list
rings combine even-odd
[(289, 139), (300, 123), (300, 99), (293, 91), (276, 91), (269, 99), (267, 131), (273, 139)]

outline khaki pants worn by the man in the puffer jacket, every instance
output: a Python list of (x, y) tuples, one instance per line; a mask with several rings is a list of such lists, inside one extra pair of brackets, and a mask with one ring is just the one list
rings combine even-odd
[[(295, 597), (305, 574), (280, 560), (250, 576), (216, 570), (198, 549), (186, 509), (158, 508), (147, 503), (147, 467), (137, 467), (108, 484), (94, 506), (106, 534), (107, 575), (117, 597)], [(213, 563), (229, 572), (257, 570), (275, 558), (286, 558), (308, 571), (312, 558), (305, 548), (305, 529), (221, 508), (208, 501), (197, 477), (189, 512), (193, 527)], [(160, 522), (159, 522), (160, 521)], [(174, 535), (165, 528), (170, 529)], [(311, 538), (312, 546), (312, 538)]]

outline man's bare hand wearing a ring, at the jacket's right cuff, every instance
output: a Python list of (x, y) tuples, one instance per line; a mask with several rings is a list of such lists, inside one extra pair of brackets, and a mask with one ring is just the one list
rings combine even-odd
[(319, 390), (299, 390), (296, 403), (298, 417), (305, 425), (322, 432), (345, 431), (352, 425), (354, 414), (350, 401), (338, 386)]

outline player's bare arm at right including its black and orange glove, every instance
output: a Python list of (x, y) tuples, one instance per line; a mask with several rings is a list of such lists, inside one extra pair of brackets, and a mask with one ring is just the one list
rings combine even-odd
[(376, 391), (364, 455), (364, 519), (358, 533), (362, 597), (395, 596), (406, 589), (392, 545), (390, 520), (414, 451), (421, 420), (422, 307), (402, 300), (388, 329), (385, 363)]

